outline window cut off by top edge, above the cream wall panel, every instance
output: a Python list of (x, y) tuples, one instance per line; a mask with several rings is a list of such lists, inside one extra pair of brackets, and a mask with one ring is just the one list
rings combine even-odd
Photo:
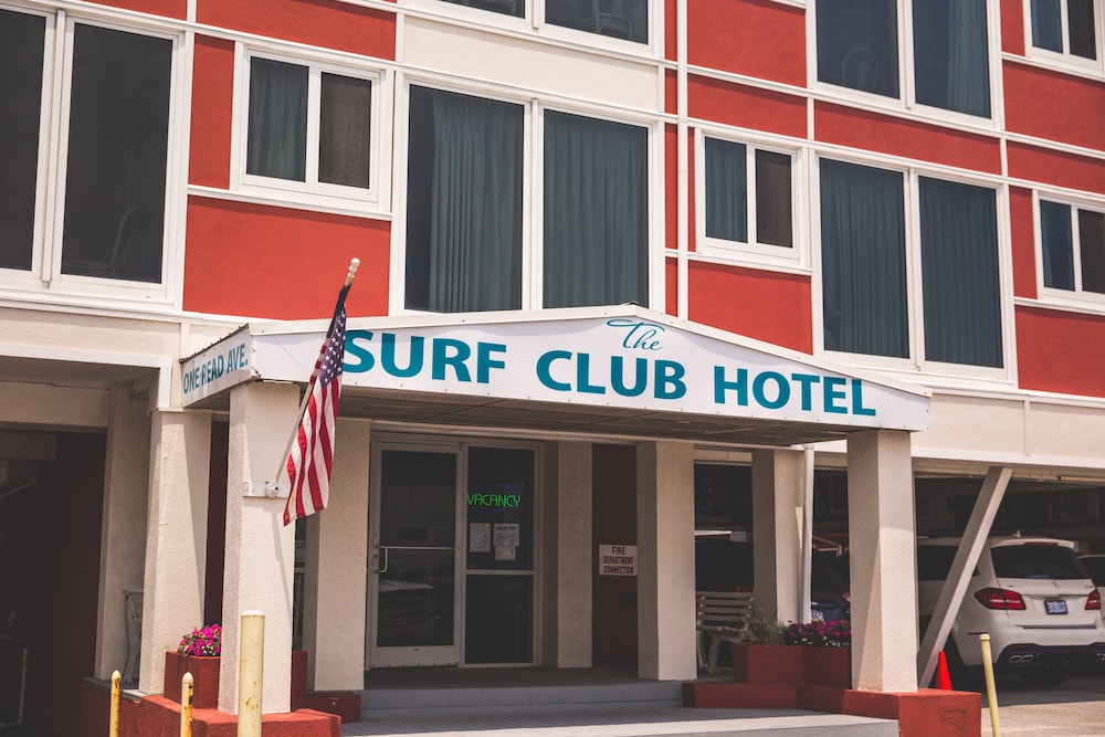
[[(522, 19), (526, 18), (528, 4), (526, 0), (443, 1)], [(633, 43), (649, 42), (649, 0), (534, 0), (533, 12), (556, 28)]]

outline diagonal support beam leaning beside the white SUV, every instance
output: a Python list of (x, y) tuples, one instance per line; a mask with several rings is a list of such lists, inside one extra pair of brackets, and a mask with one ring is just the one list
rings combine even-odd
[(925, 638), (920, 641), (920, 650), (917, 653), (917, 683), (923, 686), (930, 683), (933, 674), (936, 673), (939, 652), (944, 650), (944, 643), (951, 632), (951, 624), (959, 613), (959, 604), (962, 603), (967, 585), (970, 582), (970, 572), (975, 570), (986, 538), (990, 535), (993, 517), (998, 514), (1001, 499), (1006, 496), (1011, 474), (1012, 468), (1009, 466), (990, 466), (986, 481), (982, 482), (982, 489), (978, 494), (975, 509), (971, 510), (970, 519), (967, 522), (967, 529), (959, 540), (959, 549), (956, 550), (956, 557), (951, 561), (951, 570), (948, 571), (948, 578), (936, 600), (933, 619), (928, 623), (928, 630), (925, 631)]

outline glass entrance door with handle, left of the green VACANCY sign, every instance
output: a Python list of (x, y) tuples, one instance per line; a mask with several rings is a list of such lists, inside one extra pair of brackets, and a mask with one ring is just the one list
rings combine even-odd
[[(453, 665), (456, 478), (452, 450), (379, 452), (369, 549), (370, 666)], [(375, 567), (373, 567), (375, 566)]]

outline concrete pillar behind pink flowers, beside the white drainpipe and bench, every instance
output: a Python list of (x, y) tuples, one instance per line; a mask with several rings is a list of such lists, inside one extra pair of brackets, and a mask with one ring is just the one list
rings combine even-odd
[(802, 451), (753, 451), (753, 566), (756, 607), (780, 622), (801, 620)]

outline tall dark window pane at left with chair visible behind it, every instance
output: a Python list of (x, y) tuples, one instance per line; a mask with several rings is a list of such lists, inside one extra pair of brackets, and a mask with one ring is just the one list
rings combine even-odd
[(160, 282), (172, 42), (73, 36), (62, 272)]

